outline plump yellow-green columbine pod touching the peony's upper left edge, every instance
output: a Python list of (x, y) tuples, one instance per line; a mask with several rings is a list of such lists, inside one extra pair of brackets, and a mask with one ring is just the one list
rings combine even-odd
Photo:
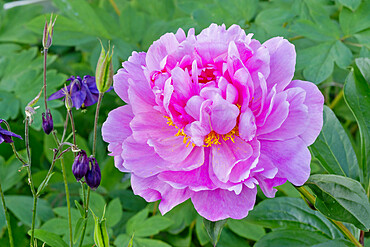
[(95, 70), (96, 87), (101, 93), (106, 92), (113, 83), (113, 48), (110, 51), (109, 47), (108, 52), (105, 53), (104, 47), (101, 44), (101, 53)]

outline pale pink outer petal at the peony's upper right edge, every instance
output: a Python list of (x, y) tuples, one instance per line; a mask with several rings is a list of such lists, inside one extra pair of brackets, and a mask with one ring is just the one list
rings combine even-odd
[(281, 92), (294, 76), (296, 53), (294, 45), (282, 37), (275, 37), (263, 43), (270, 53), (270, 75), (267, 77), (268, 88), (277, 85)]

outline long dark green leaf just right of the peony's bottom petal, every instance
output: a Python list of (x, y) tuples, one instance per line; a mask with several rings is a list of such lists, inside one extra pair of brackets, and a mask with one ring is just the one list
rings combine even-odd
[(272, 229), (317, 231), (330, 239), (342, 234), (320, 212), (307, 207), (301, 198), (276, 197), (260, 202), (247, 216), (251, 223)]

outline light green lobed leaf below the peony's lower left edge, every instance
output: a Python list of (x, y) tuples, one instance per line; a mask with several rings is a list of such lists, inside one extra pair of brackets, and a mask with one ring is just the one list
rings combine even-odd
[(164, 216), (148, 217), (148, 209), (144, 209), (130, 218), (126, 224), (126, 232), (129, 235), (135, 234), (135, 237), (148, 237), (158, 234), (172, 225), (172, 220)]

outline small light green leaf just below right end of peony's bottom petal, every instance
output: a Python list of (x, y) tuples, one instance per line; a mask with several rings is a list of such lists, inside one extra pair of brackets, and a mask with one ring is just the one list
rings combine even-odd
[(259, 240), (265, 235), (265, 229), (259, 225), (248, 222), (247, 219), (235, 220), (229, 219), (227, 222), (229, 228), (241, 237), (252, 239), (254, 241)]

